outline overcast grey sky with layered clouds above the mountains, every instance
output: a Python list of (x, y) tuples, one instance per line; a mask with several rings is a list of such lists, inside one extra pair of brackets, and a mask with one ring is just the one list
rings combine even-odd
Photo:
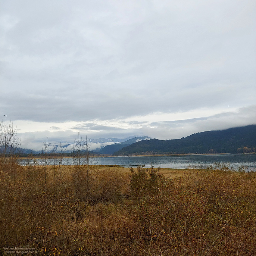
[(256, 123), (254, 0), (2, 0), (0, 30), (23, 147)]

